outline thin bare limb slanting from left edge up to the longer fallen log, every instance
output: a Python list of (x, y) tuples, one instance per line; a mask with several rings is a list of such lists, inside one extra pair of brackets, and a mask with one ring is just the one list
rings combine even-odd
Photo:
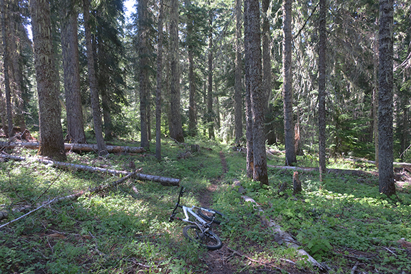
[[(14, 223), (14, 222), (16, 222), (16, 221), (18, 221), (18, 220), (20, 220), (20, 219), (23, 219), (25, 216), (27, 216), (27, 215), (29, 215), (29, 214), (32, 214), (33, 212), (36, 212), (36, 211), (39, 210), (40, 208), (42, 208), (42, 207), (44, 207), (44, 206), (47, 206), (47, 205), (49, 205), (49, 204), (51, 204), (51, 203), (58, 203), (58, 202), (60, 202), (60, 201), (75, 200), (75, 199), (81, 197), (82, 195), (85, 195), (85, 194), (88, 193), (88, 192), (90, 192), (90, 193), (100, 192), (101, 190), (105, 190), (105, 189), (107, 189), (107, 188), (112, 188), (112, 187), (114, 187), (114, 186), (117, 186), (118, 184), (121, 184), (121, 183), (125, 182), (125, 181), (126, 181), (127, 179), (129, 179), (130, 177), (134, 177), (134, 175), (136, 175), (136, 172), (135, 172), (135, 171), (127, 174), (125, 177), (123, 177), (123, 178), (121, 178), (121, 179), (118, 179), (118, 180), (116, 180), (116, 181), (114, 181), (114, 182), (112, 182), (112, 183), (110, 183), (110, 184), (102, 184), (102, 185), (100, 185), (100, 186), (96, 186), (95, 188), (90, 188), (90, 189), (88, 189), (87, 191), (86, 191), (86, 190), (82, 190), (82, 191), (76, 192), (76, 193), (74, 193), (74, 194), (72, 194), (72, 195), (67, 195), (67, 196), (64, 196), (64, 197), (58, 197), (58, 198), (52, 199), (51, 201), (43, 202), (43, 203), (41, 203), (40, 205), (38, 205), (37, 208), (35, 208), (34, 210), (31, 210), (31, 211), (27, 212), (26, 214), (24, 214), (24, 215), (22, 215), (22, 216), (20, 216), (20, 217), (18, 217), (18, 218), (16, 218), (16, 219), (8, 222), (8, 223), (5, 223), (4, 225), (0, 225), (0, 229), (3, 228), (3, 227), (5, 227), (5, 226), (7, 226), (7, 225), (10, 225), (11, 223)], [(27, 210), (27, 209), (29, 209), (29, 208), (31, 208), (31, 206), (24, 206), (24, 207), (21, 207), (21, 208), (14, 208), (13, 212), (21, 212), (21, 211)], [(1, 219), (5, 219), (5, 218), (7, 218), (7, 217), (8, 217), (8, 212), (0, 212), (0, 220), (1, 220)]]

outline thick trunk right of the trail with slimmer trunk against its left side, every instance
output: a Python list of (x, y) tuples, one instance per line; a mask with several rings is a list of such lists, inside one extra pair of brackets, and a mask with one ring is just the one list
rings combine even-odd
[(262, 87), (262, 53), (260, 37), (260, 9), (258, 0), (246, 0), (247, 25), (244, 36), (248, 40), (249, 55), (247, 70), (249, 71), (249, 88), (251, 94), (251, 110), (253, 115), (253, 179), (261, 184), (268, 185), (265, 131), (264, 131), (264, 105), (266, 92)]

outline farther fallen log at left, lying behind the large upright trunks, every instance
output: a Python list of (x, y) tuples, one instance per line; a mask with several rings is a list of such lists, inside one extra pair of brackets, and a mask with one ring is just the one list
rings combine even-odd
[[(0, 147), (6, 149), (14, 149), (16, 147), (25, 147), (27, 149), (38, 149), (39, 142), (0, 142)], [(99, 151), (97, 145), (92, 144), (64, 144), (66, 151)], [(127, 147), (127, 146), (105, 146), (105, 150), (109, 153), (129, 152), (129, 153), (142, 153), (146, 150), (142, 147)]]

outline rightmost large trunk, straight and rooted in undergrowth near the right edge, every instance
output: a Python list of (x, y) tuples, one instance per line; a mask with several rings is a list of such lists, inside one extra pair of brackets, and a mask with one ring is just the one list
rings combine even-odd
[(379, 1), (379, 192), (395, 195), (393, 170), (393, 0)]

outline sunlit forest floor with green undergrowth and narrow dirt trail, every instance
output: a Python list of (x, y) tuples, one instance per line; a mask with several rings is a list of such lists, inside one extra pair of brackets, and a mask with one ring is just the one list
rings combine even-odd
[[(201, 149), (186, 153), (190, 144)], [(138, 143), (119, 142), (116, 145)], [(23, 148), (4, 151), (34, 156)], [(186, 144), (164, 140), (163, 160), (153, 152), (68, 153), (68, 162), (181, 179), (182, 203), (215, 208), (228, 220), (214, 227), (223, 247), (208, 251), (182, 236), (184, 223), (169, 222), (178, 188), (128, 179), (73, 201), (52, 203), (15, 223), (23, 213), (54, 197), (114, 182), (118, 177), (60, 170), (0, 158), (0, 273), (321, 273), (279, 234), (262, 223), (245, 195), (256, 200), (271, 221), (281, 225), (328, 273), (411, 273), (411, 176), (396, 169), (397, 197), (378, 193), (371, 164), (330, 159), (323, 182), (315, 170), (299, 171), (301, 196), (292, 196), (292, 170), (277, 168), (284, 154), (269, 155), (270, 186), (245, 177), (245, 153), (207, 140)], [(182, 157), (184, 155), (184, 157)], [(315, 156), (299, 156), (299, 166), (314, 167)], [(278, 192), (279, 184), (288, 188)]]

